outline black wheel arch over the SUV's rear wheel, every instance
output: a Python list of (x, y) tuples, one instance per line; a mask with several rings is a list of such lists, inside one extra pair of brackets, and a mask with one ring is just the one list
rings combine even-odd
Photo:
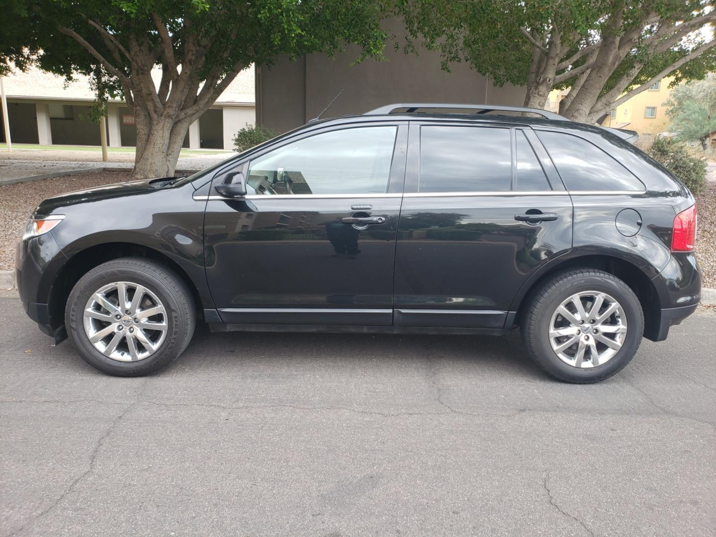
[(639, 303), (642, 305), (642, 310), (644, 311), (644, 337), (648, 339), (657, 337), (661, 320), (661, 301), (654, 282), (644, 270), (632, 261), (608, 254), (584, 253), (579, 256), (571, 256), (551, 263), (549, 266), (545, 266), (542, 271), (533, 274), (523, 284), (510, 306), (510, 311), (516, 311), (513, 324), (521, 324), (531, 297), (546, 280), (558, 272), (581, 267), (599, 269), (624, 281), (634, 291)]

